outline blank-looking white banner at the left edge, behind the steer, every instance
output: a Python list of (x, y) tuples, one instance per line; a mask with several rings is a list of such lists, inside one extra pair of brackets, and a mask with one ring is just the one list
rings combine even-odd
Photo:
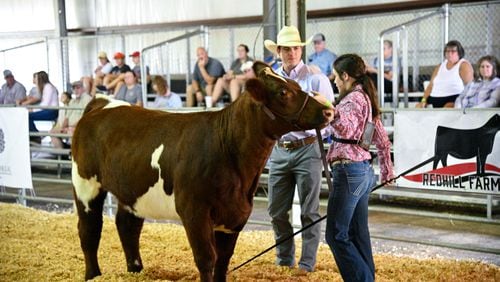
[(0, 185), (33, 189), (25, 108), (0, 108)]

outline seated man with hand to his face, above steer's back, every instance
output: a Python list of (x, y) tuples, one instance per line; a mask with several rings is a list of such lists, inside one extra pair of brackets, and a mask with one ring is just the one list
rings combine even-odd
[(201, 105), (205, 96), (212, 96), (217, 79), (222, 77), (226, 71), (222, 63), (208, 56), (203, 47), (196, 49), (197, 62), (194, 67), (193, 81), (186, 89), (186, 105), (194, 107)]

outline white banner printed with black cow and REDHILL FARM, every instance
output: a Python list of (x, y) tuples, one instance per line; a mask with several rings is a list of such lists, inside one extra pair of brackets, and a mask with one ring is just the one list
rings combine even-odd
[(500, 194), (500, 111), (399, 110), (394, 120), (396, 174), (402, 187)]

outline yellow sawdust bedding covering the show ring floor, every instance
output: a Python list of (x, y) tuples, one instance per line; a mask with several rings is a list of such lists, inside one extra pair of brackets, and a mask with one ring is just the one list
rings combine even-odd
[[(0, 280), (82, 281), (83, 254), (75, 214), (55, 214), (0, 203)], [(230, 269), (272, 245), (270, 231), (243, 232)], [(105, 217), (99, 262), (102, 276), (95, 281), (199, 280), (182, 226), (146, 223), (141, 236), (144, 270), (126, 272), (118, 234)], [(300, 252), (297, 252), (300, 253)], [(271, 251), (234, 273), (228, 281), (341, 281), (328, 246), (321, 244), (316, 271), (297, 276), (273, 264)], [(377, 281), (500, 281), (500, 267), (473, 261), (414, 259), (375, 255)]]

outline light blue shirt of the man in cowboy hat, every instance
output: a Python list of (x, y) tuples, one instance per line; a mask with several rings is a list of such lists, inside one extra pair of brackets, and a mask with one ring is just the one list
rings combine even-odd
[[(300, 63), (290, 72), (290, 75), (287, 75), (283, 70), (283, 67), (280, 67), (277, 71), (277, 74), (292, 79), (296, 81), (302, 91), (310, 92), (316, 91), (325, 96), (330, 102), (333, 102), (333, 89), (328, 77), (326, 77), (322, 73), (313, 74), (311, 69), (304, 64), (304, 62), (300, 61)], [(326, 127), (321, 130), (321, 135), (323, 138), (326, 138), (331, 135), (331, 127)], [(316, 130), (306, 130), (306, 131), (292, 131), (283, 136), (281, 136), (281, 140), (293, 141), (303, 139), (309, 136), (316, 136)]]

